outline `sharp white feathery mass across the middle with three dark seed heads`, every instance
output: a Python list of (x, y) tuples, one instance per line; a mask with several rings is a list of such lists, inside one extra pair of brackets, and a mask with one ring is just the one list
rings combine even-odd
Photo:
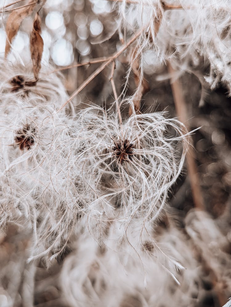
[(17, 69), (9, 65), (8, 83), (6, 72), (0, 78), (1, 229), (9, 222), (32, 229), (31, 256), (39, 258), (65, 248), (81, 215), (90, 229), (119, 219), (126, 232), (137, 218), (140, 235), (152, 228), (184, 165), (185, 127), (161, 112), (122, 121), (115, 106), (68, 117), (57, 113), (66, 99), (58, 77), (49, 91), (38, 81), (27, 92), (28, 76)]

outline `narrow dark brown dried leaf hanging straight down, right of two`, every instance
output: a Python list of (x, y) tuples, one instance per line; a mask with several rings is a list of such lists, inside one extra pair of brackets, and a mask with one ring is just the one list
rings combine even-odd
[(41, 17), (36, 13), (34, 18), (34, 26), (30, 37), (30, 53), (33, 62), (33, 72), (35, 80), (39, 78), (41, 69), (41, 59), (43, 55), (43, 39), (41, 37)]

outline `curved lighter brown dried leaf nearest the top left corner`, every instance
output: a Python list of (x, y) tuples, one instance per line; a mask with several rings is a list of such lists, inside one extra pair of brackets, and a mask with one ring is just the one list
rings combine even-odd
[[(38, 1), (39, 2), (39, 1)], [(14, 36), (18, 33), (19, 27), (27, 16), (32, 14), (34, 7), (37, 3), (34, 3), (34, 0), (30, 0), (28, 4), (29, 6), (22, 7), (21, 9), (14, 10), (7, 19), (6, 22), (6, 47), (5, 47), (5, 57), (10, 53), (11, 42)]]

